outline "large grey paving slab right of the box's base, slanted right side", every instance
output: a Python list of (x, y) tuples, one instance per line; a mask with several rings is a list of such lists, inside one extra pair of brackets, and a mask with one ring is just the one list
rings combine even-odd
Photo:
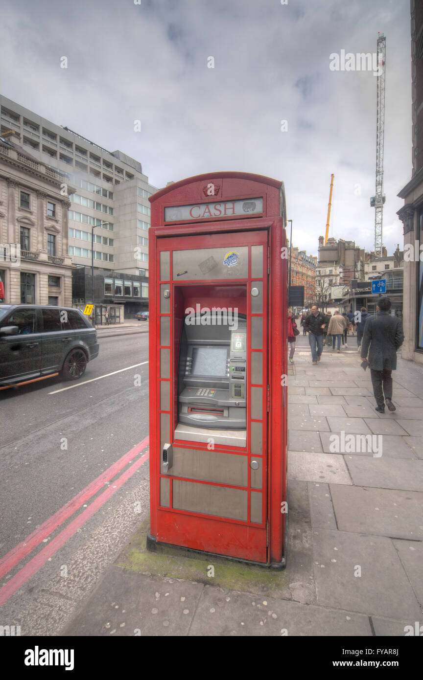
[(326, 529), (312, 535), (319, 605), (406, 621), (421, 617), (391, 539)]

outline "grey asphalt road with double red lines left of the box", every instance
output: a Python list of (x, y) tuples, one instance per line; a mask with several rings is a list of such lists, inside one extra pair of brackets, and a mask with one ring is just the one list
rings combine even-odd
[(99, 343), (79, 381), (0, 393), (0, 624), (22, 635), (58, 634), (148, 514), (148, 332)]

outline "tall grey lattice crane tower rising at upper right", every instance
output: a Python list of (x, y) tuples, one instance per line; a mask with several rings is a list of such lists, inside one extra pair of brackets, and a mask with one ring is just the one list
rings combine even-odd
[(386, 37), (380, 33), (377, 35), (376, 190), (370, 199), (370, 205), (375, 209), (375, 255), (382, 257), (382, 222), (386, 200), (384, 196)]

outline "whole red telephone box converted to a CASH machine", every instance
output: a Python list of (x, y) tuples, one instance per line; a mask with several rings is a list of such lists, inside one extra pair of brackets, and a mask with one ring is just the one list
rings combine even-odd
[(210, 173), (150, 203), (148, 544), (284, 566), (284, 184)]

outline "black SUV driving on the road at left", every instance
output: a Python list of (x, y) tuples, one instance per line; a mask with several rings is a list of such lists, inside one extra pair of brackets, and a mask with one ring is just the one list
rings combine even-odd
[(78, 379), (98, 354), (97, 331), (80, 309), (0, 305), (0, 386), (57, 373)]

